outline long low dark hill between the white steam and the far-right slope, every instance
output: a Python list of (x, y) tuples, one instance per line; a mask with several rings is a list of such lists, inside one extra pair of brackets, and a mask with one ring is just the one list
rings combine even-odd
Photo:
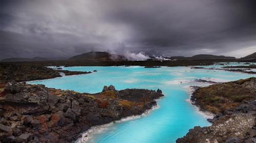
[(197, 54), (191, 57), (184, 56), (172, 56), (171, 59), (177, 60), (221, 60), (221, 59), (236, 59), (233, 56), (224, 56), (224, 55), (212, 55), (212, 54)]

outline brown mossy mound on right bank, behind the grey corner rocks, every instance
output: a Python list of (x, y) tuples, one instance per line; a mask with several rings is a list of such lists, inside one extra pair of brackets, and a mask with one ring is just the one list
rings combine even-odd
[(255, 93), (256, 78), (251, 77), (203, 88), (196, 87), (191, 100), (201, 109), (218, 114), (236, 108), (243, 101), (256, 100)]

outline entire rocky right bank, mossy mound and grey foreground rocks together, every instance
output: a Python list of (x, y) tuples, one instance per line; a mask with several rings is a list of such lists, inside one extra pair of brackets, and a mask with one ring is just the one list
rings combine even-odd
[(189, 129), (184, 137), (176, 140), (177, 143), (256, 142), (255, 77), (194, 88), (191, 96), (194, 105), (216, 116), (208, 119), (211, 126)]

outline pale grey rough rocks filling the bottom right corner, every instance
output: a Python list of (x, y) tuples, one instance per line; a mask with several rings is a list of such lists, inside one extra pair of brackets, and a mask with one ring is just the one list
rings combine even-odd
[(209, 127), (194, 127), (177, 143), (185, 142), (250, 142), (256, 137), (256, 101), (217, 115)]

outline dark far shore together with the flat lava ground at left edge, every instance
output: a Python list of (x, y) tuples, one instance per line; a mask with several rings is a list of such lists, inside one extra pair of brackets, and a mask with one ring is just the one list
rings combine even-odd
[[(216, 63), (238, 62), (234, 60), (198, 60), (198, 61), (41, 61), (41, 62), (0, 62), (0, 83), (15, 80), (32, 81), (61, 77), (59, 70), (47, 68), (48, 66), (74, 67), (74, 66), (144, 66), (144, 67), (178, 67), (178, 66), (208, 66)], [(255, 61), (256, 62), (256, 61)], [(87, 74), (88, 72), (62, 71), (66, 75)], [(238, 71), (240, 72), (240, 71)]]

